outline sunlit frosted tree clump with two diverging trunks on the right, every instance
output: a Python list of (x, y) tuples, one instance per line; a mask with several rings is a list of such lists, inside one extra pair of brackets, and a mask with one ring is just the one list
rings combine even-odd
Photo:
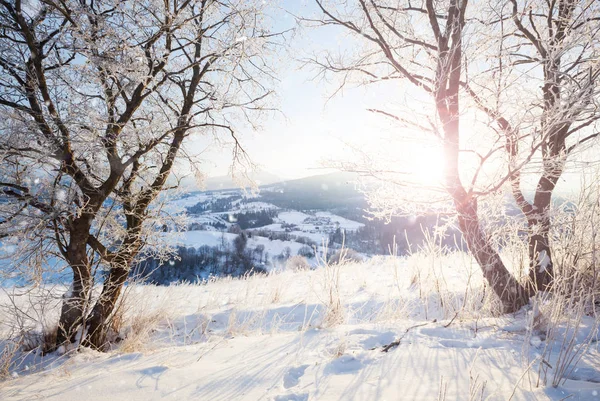
[[(406, 131), (416, 131), (442, 150), (443, 164), (430, 160), (442, 176), (441, 187), (433, 188), (446, 195), (439, 198), (435, 191), (417, 195), (415, 186), (427, 184), (402, 170), (400, 157), (379, 163), (359, 152), (363, 160), (342, 163), (385, 181), (369, 196), (375, 215), (419, 213), (449, 198), (469, 250), (506, 311), (547, 289), (553, 277), (552, 194), (568, 158), (598, 136), (600, 3), (315, 2), (321, 16), (305, 19), (308, 24), (341, 28), (362, 47), (317, 54), (310, 62), (324, 77), (341, 75), (342, 85), (394, 88), (404, 101), (371, 111), (400, 124), (399, 138), (408, 140)], [(528, 200), (522, 187), (532, 177)], [(479, 215), (482, 200), (505, 186), (528, 234), (526, 286), (504, 266), (497, 241), (486, 232), (487, 216)]]

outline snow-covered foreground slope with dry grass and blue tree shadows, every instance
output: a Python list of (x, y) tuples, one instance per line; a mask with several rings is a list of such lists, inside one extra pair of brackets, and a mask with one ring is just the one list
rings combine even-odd
[[(30, 354), (0, 399), (600, 400), (599, 321), (494, 317), (464, 254), (130, 286), (125, 305), (113, 351)], [(583, 357), (554, 388), (565, 344)]]

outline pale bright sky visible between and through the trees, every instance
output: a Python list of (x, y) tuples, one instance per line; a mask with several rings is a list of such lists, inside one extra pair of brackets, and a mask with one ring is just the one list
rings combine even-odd
[[(313, 0), (281, 0), (274, 8), (274, 30), (284, 31), (296, 27), (295, 16), (318, 16)], [(252, 161), (260, 170), (284, 179), (294, 179), (331, 171), (335, 161), (352, 162), (357, 157), (356, 149), (372, 153), (377, 158), (379, 149), (386, 148), (386, 156), (398, 167), (406, 166), (417, 181), (433, 184), (441, 182), (443, 158), (431, 138), (422, 132), (408, 133), (389, 118), (375, 115), (369, 108), (398, 110), (405, 102), (418, 104), (419, 94), (404, 91), (395, 83), (356, 87), (347, 85), (336, 92), (339, 81), (324, 81), (317, 77), (315, 68), (301, 62), (306, 56), (330, 49), (332, 53), (343, 53), (357, 42), (349, 39), (345, 32), (327, 27), (303, 28), (291, 36), (289, 50), (274, 61), (279, 72), (276, 85), (275, 113), (262, 121), (261, 129), (253, 132), (241, 129), (242, 143)], [(335, 96), (332, 95), (335, 93)], [(415, 109), (418, 109), (417, 105)], [(427, 109), (425, 113), (427, 112)], [(476, 128), (462, 124), (461, 135), (466, 141), (478, 139)], [(489, 127), (483, 127), (489, 128)], [(409, 138), (398, 141), (398, 137)], [(387, 139), (389, 138), (389, 140)], [(230, 152), (221, 146), (212, 146), (198, 141), (196, 150), (203, 151), (201, 169), (207, 176), (227, 175), (231, 165)], [(379, 147), (379, 149), (378, 149)], [(370, 154), (371, 156), (371, 154)], [(588, 154), (590, 156), (590, 154)], [(592, 159), (596, 159), (591, 154)], [(382, 157), (380, 157), (382, 158)], [(394, 159), (395, 158), (395, 159)], [(492, 167), (493, 174), (493, 167)], [(594, 170), (595, 172), (595, 170)], [(535, 187), (535, 179), (524, 185)], [(565, 174), (559, 189), (570, 191), (580, 185), (578, 174)]]

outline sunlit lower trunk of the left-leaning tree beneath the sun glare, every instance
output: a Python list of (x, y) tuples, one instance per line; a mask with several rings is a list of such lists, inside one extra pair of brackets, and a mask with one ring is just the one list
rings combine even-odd
[(504, 313), (512, 313), (526, 305), (529, 297), (525, 288), (506, 269), (498, 252), (490, 245), (479, 226), (477, 200), (456, 204), (458, 222), (469, 251), (481, 267), (494, 293), (502, 301)]

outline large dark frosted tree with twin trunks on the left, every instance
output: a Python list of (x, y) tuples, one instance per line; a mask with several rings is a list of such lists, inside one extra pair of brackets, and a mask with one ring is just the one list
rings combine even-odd
[[(24, 260), (43, 239), (73, 272), (57, 345), (83, 323), (104, 345), (133, 261), (160, 242), (159, 194), (186, 139), (223, 132), (245, 157), (235, 122), (264, 110), (278, 45), (264, 7), (0, 1), (0, 229)], [(109, 274), (94, 303), (97, 263)]]

